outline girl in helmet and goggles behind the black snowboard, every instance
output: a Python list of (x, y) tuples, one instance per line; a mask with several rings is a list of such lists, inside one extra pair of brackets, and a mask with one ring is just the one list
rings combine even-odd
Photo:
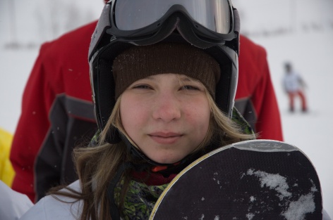
[(53, 190), (23, 219), (148, 219), (188, 164), (255, 138), (233, 109), (238, 16), (230, 1), (138, 2), (110, 1), (92, 37), (100, 132), (74, 150), (79, 180)]

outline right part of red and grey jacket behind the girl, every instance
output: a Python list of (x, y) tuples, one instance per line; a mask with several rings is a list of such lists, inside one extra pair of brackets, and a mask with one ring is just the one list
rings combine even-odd
[(283, 141), (281, 118), (265, 48), (241, 36), (236, 108), (258, 138)]

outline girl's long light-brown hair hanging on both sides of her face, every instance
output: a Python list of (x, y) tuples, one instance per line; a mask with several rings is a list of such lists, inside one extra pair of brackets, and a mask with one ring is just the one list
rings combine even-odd
[[(243, 134), (240, 127), (232, 122), (229, 117), (219, 110), (210, 93), (205, 91), (211, 110), (210, 127), (202, 143), (196, 148), (196, 151), (202, 150), (205, 146), (214, 142), (214, 144), (223, 146), (229, 143), (235, 143), (242, 140), (254, 138), (253, 135)], [(129, 141), (126, 131), (121, 125), (120, 117), (121, 96), (116, 101), (114, 109), (109, 117), (107, 125), (101, 132), (98, 145), (93, 147), (75, 148), (73, 157), (76, 164), (76, 170), (80, 179), (82, 193), (70, 193), (53, 191), (56, 195), (66, 195), (71, 198), (83, 200), (83, 210), (80, 219), (111, 219), (109, 214), (110, 201), (107, 196), (109, 182), (116, 175), (117, 170), (125, 162), (131, 162), (131, 155), (126, 150), (126, 145), (120, 143), (107, 143), (109, 128), (116, 127), (123, 133)], [(133, 141), (131, 141), (133, 143)], [(126, 183), (131, 180), (129, 172), (123, 175)], [(121, 193), (121, 199), (125, 198), (126, 184)], [(121, 207), (119, 207), (119, 210)]]

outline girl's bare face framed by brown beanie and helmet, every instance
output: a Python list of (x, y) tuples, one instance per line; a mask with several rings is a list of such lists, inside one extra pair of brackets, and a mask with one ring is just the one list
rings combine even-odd
[(172, 164), (205, 138), (210, 106), (205, 86), (186, 75), (153, 75), (128, 86), (121, 95), (121, 123), (151, 160)]

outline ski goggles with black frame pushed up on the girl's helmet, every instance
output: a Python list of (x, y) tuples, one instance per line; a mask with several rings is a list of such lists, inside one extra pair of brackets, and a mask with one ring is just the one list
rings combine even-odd
[(97, 28), (96, 43), (107, 32), (119, 41), (155, 44), (177, 28), (190, 44), (207, 48), (238, 37), (239, 18), (230, 0), (111, 0)]

